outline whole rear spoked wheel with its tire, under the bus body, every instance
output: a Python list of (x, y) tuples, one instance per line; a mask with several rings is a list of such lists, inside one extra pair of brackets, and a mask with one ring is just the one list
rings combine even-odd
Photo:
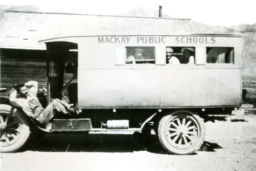
[(190, 111), (175, 111), (159, 122), (158, 137), (172, 154), (190, 154), (204, 142), (204, 124)]

